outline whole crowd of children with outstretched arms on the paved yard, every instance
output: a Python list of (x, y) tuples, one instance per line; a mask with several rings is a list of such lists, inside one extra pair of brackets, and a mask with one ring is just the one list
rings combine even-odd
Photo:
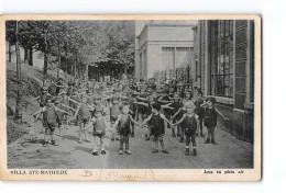
[(190, 91), (182, 94), (174, 84), (166, 84), (160, 90), (154, 79), (140, 82), (135, 79), (69, 81), (67, 84), (63, 80), (59, 82), (52, 81), (48, 87), (43, 87), (42, 93), (36, 98), (40, 110), (33, 116), (37, 120), (42, 115), (44, 146), (50, 144), (48, 135), (51, 145), (57, 146), (55, 128), (58, 128), (58, 135), (63, 137), (62, 129), (68, 129), (70, 124), (78, 127), (79, 144), (90, 143), (88, 129), (92, 128), (91, 154), (95, 156), (106, 154), (103, 138), (108, 132), (111, 140), (120, 141), (119, 154), (131, 155), (129, 140), (135, 136), (135, 125), (145, 128), (145, 140), (153, 136), (154, 154), (160, 151), (158, 144), (162, 152), (169, 154), (164, 147), (166, 128), (172, 128), (172, 136), (180, 137), (180, 143), (186, 141), (186, 155), (190, 155), (190, 141), (191, 155), (197, 155), (196, 136), (205, 137), (202, 125), (208, 129), (205, 144), (217, 144), (216, 99), (202, 100), (201, 91), (197, 92), (194, 100)]

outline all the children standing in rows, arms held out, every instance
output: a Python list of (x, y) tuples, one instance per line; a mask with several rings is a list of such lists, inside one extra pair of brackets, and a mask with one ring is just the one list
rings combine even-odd
[[(186, 137), (186, 155), (189, 155), (190, 141), (193, 143), (193, 155), (197, 155), (196, 134), (199, 130), (200, 136), (204, 137), (202, 123), (205, 123), (208, 129), (206, 143), (216, 144), (215, 128), (217, 125), (217, 112), (213, 107), (216, 102), (213, 98), (204, 102), (200, 91), (197, 94), (196, 101), (193, 100), (190, 92), (186, 92), (183, 99), (174, 91), (167, 95), (158, 96), (151, 87), (147, 88), (147, 92), (144, 92), (144, 90), (141, 92), (131, 90), (131, 92), (127, 93), (123, 89), (116, 89), (113, 94), (112, 91), (110, 91), (112, 89), (114, 88), (111, 87), (111, 89), (107, 89), (106, 87), (103, 89), (101, 88), (101, 92), (98, 92), (99, 89), (96, 89), (95, 92), (97, 93), (91, 93), (90, 91), (86, 93), (86, 88), (80, 84), (78, 88), (74, 88), (70, 98), (66, 95), (65, 91), (62, 91), (62, 93), (59, 93), (62, 98), (58, 98), (54, 107), (52, 107), (54, 105), (53, 101), (48, 100), (48, 93), (43, 93), (43, 98), (47, 99), (47, 103), (41, 103), (42, 109), (34, 115), (44, 112), (47, 114), (44, 116), (44, 127), (46, 128), (46, 134), (47, 130), (51, 130), (51, 144), (55, 145), (53, 134), (57, 124), (67, 120), (68, 125), (69, 118), (67, 117), (70, 115), (68, 111), (75, 112), (73, 120), (79, 125), (79, 143), (82, 140), (89, 141), (87, 129), (91, 125), (94, 126), (92, 135), (95, 140), (92, 155), (95, 156), (100, 152), (102, 155), (106, 154), (102, 146), (102, 137), (106, 135), (106, 128), (117, 130), (119, 134), (119, 154), (123, 154), (123, 146), (125, 145), (125, 152), (130, 155), (129, 138), (130, 136), (134, 136), (134, 124), (141, 126), (147, 125), (146, 139), (148, 139), (151, 135), (154, 136), (155, 149), (153, 152), (158, 152), (160, 143), (162, 152), (168, 154), (163, 140), (166, 125), (172, 126), (173, 136), (175, 136), (175, 128), (177, 128), (177, 136), (180, 137), (182, 143)], [(97, 94), (97, 96), (95, 96), (95, 94)], [(136, 95), (139, 96), (136, 98)], [(109, 100), (110, 104), (108, 105), (106, 102)], [(105, 101), (106, 104), (102, 104), (102, 101)], [(144, 110), (142, 111), (140, 106)], [(105, 116), (107, 109), (110, 110), (110, 121), (113, 124), (112, 129), (108, 125)], [(139, 114), (142, 114), (142, 124), (136, 122)], [(48, 125), (46, 123), (48, 123)], [(59, 127), (62, 126), (59, 125)], [(59, 135), (62, 135), (61, 129)], [(82, 135), (85, 138), (82, 138)], [(114, 135), (112, 134), (111, 140), (113, 140), (113, 138)], [(46, 144), (45, 135), (45, 146)]]

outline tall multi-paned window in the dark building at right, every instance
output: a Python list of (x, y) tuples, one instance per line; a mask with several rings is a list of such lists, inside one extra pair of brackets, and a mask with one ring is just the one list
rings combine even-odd
[(233, 95), (233, 21), (210, 21), (212, 95)]

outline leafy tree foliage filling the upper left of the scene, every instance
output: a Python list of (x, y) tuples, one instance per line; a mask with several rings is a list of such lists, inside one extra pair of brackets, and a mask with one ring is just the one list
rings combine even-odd
[[(11, 43), (15, 39), (14, 23), (6, 23), (6, 38)], [(61, 58), (69, 61), (61, 68), (72, 68), (70, 58), (75, 57), (84, 66), (98, 60), (134, 66), (134, 21), (19, 21), (19, 42), (24, 48), (46, 52), (53, 63), (57, 63), (61, 46)]]

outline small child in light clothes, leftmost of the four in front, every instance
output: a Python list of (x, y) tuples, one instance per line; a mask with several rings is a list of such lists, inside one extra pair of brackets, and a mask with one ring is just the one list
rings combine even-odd
[(107, 123), (106, 117), (102, 116), (102, 109), (96, 110), (90, 124), (86, 128), (84, 128), (86, 130), (89, 126), (94, 125), (94, 148), (91, 151), (94, 156), (99, 156), (99, 154), (106, 155), (103, 136), (106, 135), (106, 128), (111, 129), (111, 127)]

